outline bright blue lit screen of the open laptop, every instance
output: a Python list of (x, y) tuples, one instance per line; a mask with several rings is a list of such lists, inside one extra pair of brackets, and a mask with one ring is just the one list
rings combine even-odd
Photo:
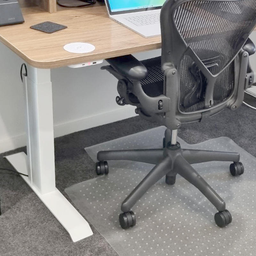
[(110, 14), (160, 9), (165, 0), (106, 0)]

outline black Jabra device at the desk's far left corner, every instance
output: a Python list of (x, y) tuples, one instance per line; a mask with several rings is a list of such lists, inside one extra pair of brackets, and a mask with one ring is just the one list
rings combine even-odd
[(20, 4), (17, 0), (0, 0), (0, 26), (23, 22)]

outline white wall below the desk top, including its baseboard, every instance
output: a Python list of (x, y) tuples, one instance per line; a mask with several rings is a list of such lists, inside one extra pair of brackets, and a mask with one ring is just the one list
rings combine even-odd
[[(0, 43), (0, 153), (25, 146), (23, 61)], [(135, 54), (142, 60), (159, 56), (160, 50)], [(103, 65), (107, 63), (104, 62)], [(54, 136), (135, 116), (134, 107), (116, 104), (117, 80), (101, 65), (52, 69)]]

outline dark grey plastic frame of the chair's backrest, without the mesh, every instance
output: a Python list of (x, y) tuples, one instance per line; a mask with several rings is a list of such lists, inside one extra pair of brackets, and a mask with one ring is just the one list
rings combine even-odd
[[(162, 69), (164, 70), (164, 94), (171, 99), (171, 111), (166, 113), (166, 126), (172, 129), (179, 128), (181, 123), (200, 121), (220, 112), (224, 108), (236, 109), (243, 101), (244, 83), (248, 66), (248, 53), (242, 50), (242, 47), (252, 30), (256, 25), (256, 15), (252, 22), (243, 29), (243, 35), (237, 45), (237, 51), (234, 56), (226, 63), (217, 74), (212, 74), (204, 65), (202, 60), (197, 56), (192, 48), (188, 46), (175, 23), (174, 15), (177, 8), (187, 2), (237, 2), (245, 0), (167, 0), (161, 10), (161, 31), (162, 31)], [(255, 11), (256, 13), (256, 11)], [(208, 84), (205, 92), (205, 108), (186, 112), (180, 110), (180, 84), (177, 69), (184, 55), (190, 56), (200, 68), (201, 72), (207, 78)], [(212, 105), (214, 85), (218, 77), (230, 65), (234, 65), (234, 86), (232, 93), (223, 102)]]

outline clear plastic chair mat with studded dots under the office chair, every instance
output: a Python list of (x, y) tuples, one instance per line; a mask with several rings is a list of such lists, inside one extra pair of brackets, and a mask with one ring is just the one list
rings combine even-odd
[[(154, 128), (86, 148), (96, 161), (108, 149), (161, 148), (165, 127)], [(231, 151), (241, 155), (244, 174), (233, 177), (228, 162), (193, 164), (225, 200), (233, 220), (225, 228), (214, 221), (215, 207), (182, 177), (175, 185), (164, 178), (133, 207), (136, 226), (119, 226), (120, 206), (132, 189), (153, 168), (152, 164), (108, 161), (109, 174), (65, 189), (73, 203), (121, 256), (255, 256), (256, 159), (227, 137), (182, 148)]]

